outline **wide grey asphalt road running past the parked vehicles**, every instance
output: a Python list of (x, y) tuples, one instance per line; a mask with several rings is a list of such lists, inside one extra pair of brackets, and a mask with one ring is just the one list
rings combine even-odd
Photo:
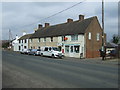
[(118, 65), (3, 51), (3, 88), (117, 88)]

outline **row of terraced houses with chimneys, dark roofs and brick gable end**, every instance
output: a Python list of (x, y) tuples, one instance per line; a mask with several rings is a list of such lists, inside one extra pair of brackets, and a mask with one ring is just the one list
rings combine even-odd
[[(34, 33), (18, 39), (14, 51), (52, 46), (58, 47), (66, 57), (79, 58), (82, 53), (84, 58), (95, 58), (100, 56), (102, 32), (97, 16), (85, 19), (84, 15), (79, 15), (76, 21), (69, 18), (57, 25), (45, 23), (43, 27), (39, 24)], [(106, 34), (104, 40), (106, 42)]]

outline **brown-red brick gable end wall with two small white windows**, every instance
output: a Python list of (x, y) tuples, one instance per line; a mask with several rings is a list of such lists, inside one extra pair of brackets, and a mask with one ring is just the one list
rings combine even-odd
[[(91, 40), (88, 39), (88, 33), (91, 32)], [(97, 41), (97, 33), (100, 34), (100, 40)], [(86, 40), (86, 58), (100, 57), (99, 49), (102, 46), (102, 29), (97, 17), (89, 25), (85, 34)]]

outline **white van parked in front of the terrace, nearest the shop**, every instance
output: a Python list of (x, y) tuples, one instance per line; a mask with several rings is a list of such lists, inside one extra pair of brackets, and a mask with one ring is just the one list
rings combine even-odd
[(63, 57), (63, 53), (57, 47), (41, 47), (41, 56)]

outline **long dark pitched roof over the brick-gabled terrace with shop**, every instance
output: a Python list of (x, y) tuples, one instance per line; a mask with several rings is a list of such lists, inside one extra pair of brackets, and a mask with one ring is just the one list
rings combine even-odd
[(73, 34), (84, 34), (87, 27), (95, 17), (84, 19), (82, 21), (73, 21), (70, 23), (57, 24), (53, 26), (38, 29), (30, 38), (53, 37)]

